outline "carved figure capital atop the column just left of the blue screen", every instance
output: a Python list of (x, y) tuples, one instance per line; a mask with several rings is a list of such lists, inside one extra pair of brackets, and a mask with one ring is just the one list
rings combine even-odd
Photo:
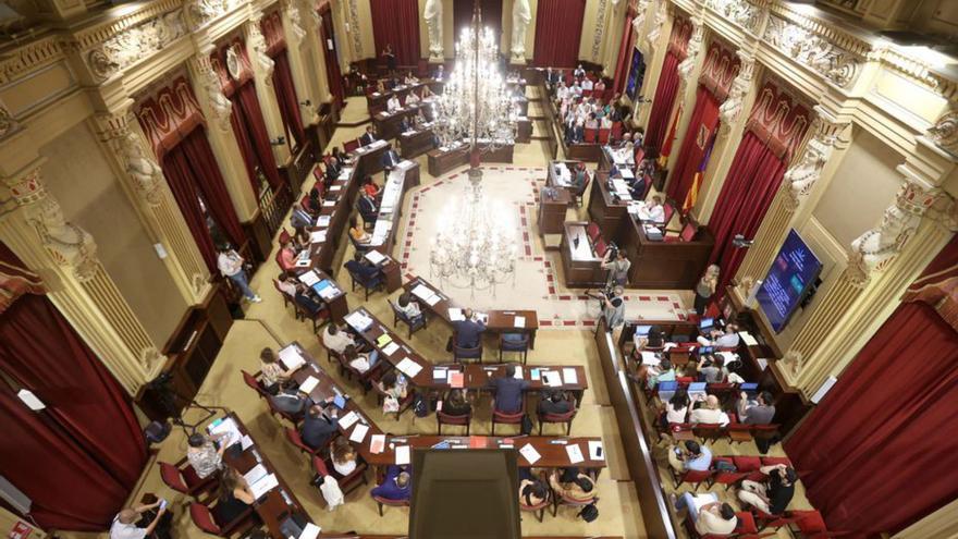
[(816, 105), (815, 118), (812, 121), (812, 136), (806, 144), (801, 156), (789, 167), (783, 177), (788, 195), (785, 197), (785, 209), (794, 212), (805, 197), (811, 193), (815, 182), (822, 177), (822, 169), (835, 148), (838, 135), (845, 131), (849, 122), (838, 121), (831, 112)]

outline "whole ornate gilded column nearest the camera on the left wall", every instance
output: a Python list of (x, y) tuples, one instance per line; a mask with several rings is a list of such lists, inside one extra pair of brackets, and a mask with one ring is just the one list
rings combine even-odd
[(42, 161), (2, 179), (16, 210), (0, 236), (47, 282), (50, 299), (130, 394), (162, 367), (162, 354), (97, 258), (94, 238), (66, 221), (40, 177)]

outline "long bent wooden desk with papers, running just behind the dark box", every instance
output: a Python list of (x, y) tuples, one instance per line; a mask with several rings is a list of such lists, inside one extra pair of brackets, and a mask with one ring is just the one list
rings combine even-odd
[[(604, 451), (601, 456), (594, 457), (594, 448), (597, 444), (601, 446), (601, 438), (386, 434), (363, 412), (354, 400), (348, 399), (347, 393), (335, 383), (316, 359), (299, 346), (298, 343), (294, 342), (282, 348), (280, 351), (281, 360), (284, 357), (290, 357), (291, 354), (298, 356), (306, 364), (304, 368), (293, 373), (293, 379), (299, 384), (299, 391), (309, 395), (314, 402), (321, 402), (329, 397), (344, 397), (345, 403), (343, 403), (342, 413), (339, 417), (340, 433), (355, 442), (359, 454), (372, 466), (408, 464), (412, 450), (432, 449), (437, 445), (441, 449), (450, 450), (511, 449), (519, 451), (529, 444), (540, 457), (530, 462), (521, 453), (518, 453), (516, 458), (519, 466), (572, 466), (574, 463), (566, 448), (578, 445), (584, 460), (582, 462), (575, 463), (576, 466), (590, 468), (597, 473), (605, 467)], [(286, 365), (285, 360), (283, 363)], [(431, 381), (431, 369), (427, 375)], [(449, 385), (445, 388), (449, 388)]]

